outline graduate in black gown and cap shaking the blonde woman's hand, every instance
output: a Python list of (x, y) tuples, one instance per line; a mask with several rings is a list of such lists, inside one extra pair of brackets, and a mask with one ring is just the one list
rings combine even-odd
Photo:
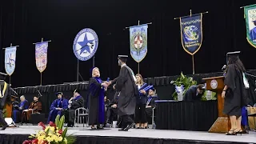
[(133, 70), (126, 66), (127, 55), (118, 56), (118, 65), (121, 70), (114, 88), (120, 91), (118, 95), (118, 116), (122, 118), (122, 131), (132, 128), (135, 123), (130, 117), (135, 112), (136, 98), (138, 97), (138, 87)]

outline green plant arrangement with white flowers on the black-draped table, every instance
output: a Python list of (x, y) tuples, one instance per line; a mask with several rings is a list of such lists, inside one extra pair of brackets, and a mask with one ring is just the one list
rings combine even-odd
[(183, 96), (186, 94), (186, 90), (190, 88), (190, 86), (197, 85), (197, 82), (193, 80), (192, 77), (186, 77), (183, 73), (181, 73), (181, 76), (177, 78), (174, 82), (175, 91), (172, 95), (174, 100), (178, 100), (178, 93), (183, 93)]

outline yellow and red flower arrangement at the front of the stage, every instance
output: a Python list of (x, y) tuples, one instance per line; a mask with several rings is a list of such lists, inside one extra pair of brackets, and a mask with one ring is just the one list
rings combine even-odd
[(31, 134), (29, 138), (33, 140), (26, 140), (22, 144), (73, 144), (75, 138), (71, 135), (67, 136), (67, 128), (62, 130), (65, 117), (58, 115), (54, 122), (50, 122), (48, 126), (45, 126), (42, 122), (38, 123), (38, 126), (42, 126), (42, 130), (38, 131), (38, 134)]

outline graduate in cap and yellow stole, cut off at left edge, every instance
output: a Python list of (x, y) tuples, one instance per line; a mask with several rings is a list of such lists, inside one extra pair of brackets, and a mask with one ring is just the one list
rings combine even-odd
[(9, 90), (10, 86), (4, 80), (6, 79), (7, 74), (0, 73), (0, 125), (2, 125), (1, 130), (6, 130), (8, 127), (5, 118), (3, 118), (2, 110), (6, 104), (7, 97), (10, 98)]

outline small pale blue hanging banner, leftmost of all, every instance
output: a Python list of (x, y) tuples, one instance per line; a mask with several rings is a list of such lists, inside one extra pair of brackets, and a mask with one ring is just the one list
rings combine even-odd
[(16, 50), (16, 46), (6, 47), (5, 68), (8, 75), (13, 74), (15, 70)]

